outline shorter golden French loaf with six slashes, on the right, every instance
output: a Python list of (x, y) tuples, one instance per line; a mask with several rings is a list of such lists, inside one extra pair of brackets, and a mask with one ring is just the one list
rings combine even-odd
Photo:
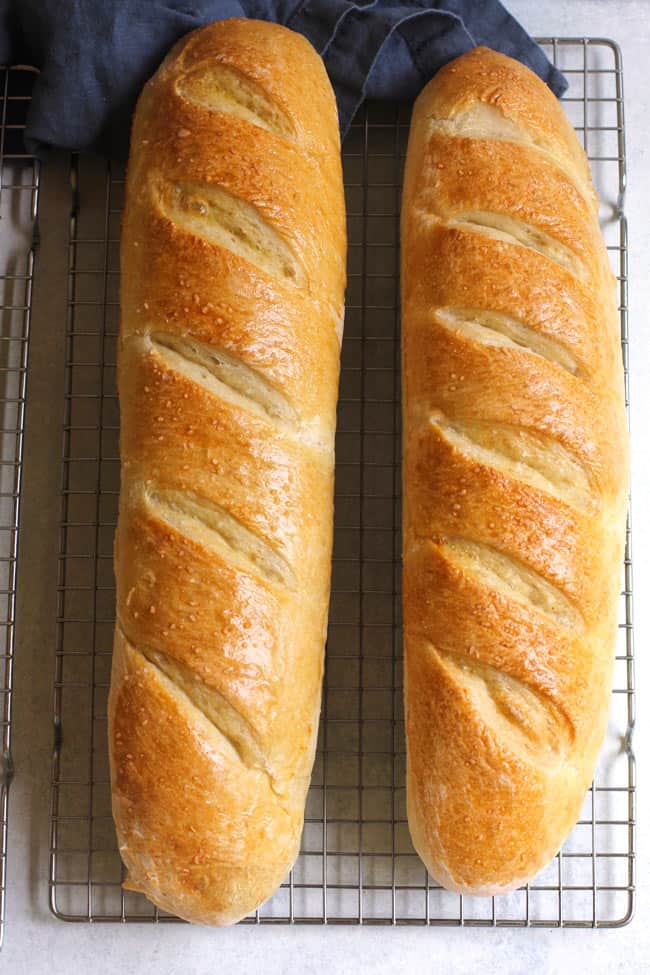
[(594, 773), (628, 446), (586, 157), (485, 48), (415, 104), (402, 294), (408, 821), (442, 885), (497, 894), (553, 857)]

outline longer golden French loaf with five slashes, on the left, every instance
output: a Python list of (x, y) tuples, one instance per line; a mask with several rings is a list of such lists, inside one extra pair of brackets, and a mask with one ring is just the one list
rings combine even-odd
[(135, 114), (121, 241), (113, 815), (159, 907), (223, 925), (281, 883), (314, 759), (345, 215), (323, 64), (229, 20)]

